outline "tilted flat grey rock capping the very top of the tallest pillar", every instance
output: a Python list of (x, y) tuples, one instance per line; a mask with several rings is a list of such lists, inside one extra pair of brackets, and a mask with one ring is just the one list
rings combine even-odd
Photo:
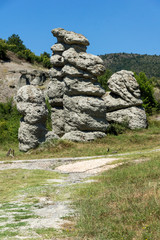
[(78, 34), (72, 31), (66, 31), (63, 28), (55, 28), (52, 30), (53, 36), (57, 37), (60, 42), (67, 44), (78, 44), (88, 46), (89, 41), (82, 34)]

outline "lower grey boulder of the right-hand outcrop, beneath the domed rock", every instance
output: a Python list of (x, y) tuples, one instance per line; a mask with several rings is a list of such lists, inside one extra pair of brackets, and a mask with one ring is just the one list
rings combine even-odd
[(147, 127), (145, 110), (142, 107), (130, 107), (106, 114), (109, 123), (126, 123), (130, 129)]

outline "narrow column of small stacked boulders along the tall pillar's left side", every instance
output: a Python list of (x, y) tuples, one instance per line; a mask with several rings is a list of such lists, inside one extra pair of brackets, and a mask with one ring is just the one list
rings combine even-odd
[(63, 111), (63, 95), (65, 84), (63, 81), (62, 68), (64, 66), (64, 58), (62, 53), (65, 50), (63, 44), (55, 44), (51, 47), (53, 55), (51, 63), (53, 68), (50, 70), (50, 83), (48, 85), (47, 95), (51, 104), (52, 128), (58, 136), (64, 134), (64, 111)]

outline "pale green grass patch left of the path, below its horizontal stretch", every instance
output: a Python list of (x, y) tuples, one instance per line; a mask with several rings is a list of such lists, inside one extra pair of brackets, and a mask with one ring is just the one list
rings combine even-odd
[[(47, 179), (59, 178), (60, 174), (44, 170), (12, 169), (0, 171), (0, 202), (13, 201), (19, 195), (25, 195), (24, 199), (32, 201), (33, 197), (43, 195), (43, 185)], [(52, 184), (53, 185), (53, 184)], [(47, 186), (44, 186), (47, 188)], [(38, 190), (37, 190), (38, 189)], [(52, 195), (55, 187), (52, 186)], [(8, 203), (7, 203), (8, 204)], [(6, 204), (2, 207), (8, 207)], [(13, 205), (13, 208), (15, 206)]]

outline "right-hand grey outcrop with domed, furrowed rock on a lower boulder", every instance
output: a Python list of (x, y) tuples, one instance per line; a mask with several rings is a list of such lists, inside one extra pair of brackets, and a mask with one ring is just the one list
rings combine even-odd
[(133, 72), (122, 70), (113, 74), (108, 80), (108, 87), (111, 92), (103, 96), (107, 121), (127, 123), (131, 129), (146, 128), (146, 114)]

